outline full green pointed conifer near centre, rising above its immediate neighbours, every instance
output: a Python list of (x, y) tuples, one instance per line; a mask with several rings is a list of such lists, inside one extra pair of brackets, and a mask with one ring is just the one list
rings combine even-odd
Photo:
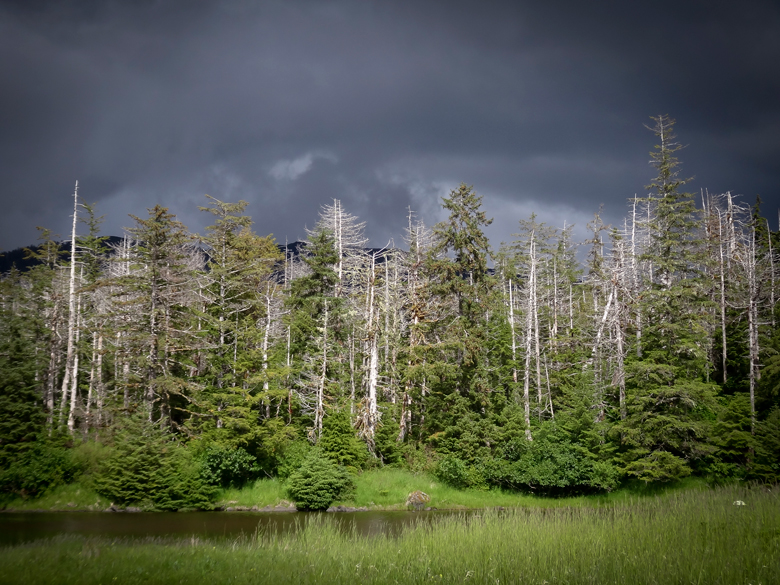
[(489, 322), (497, 299), (483, 231), (493, 220), (481, 205), (482, 197), (465, 184), (443, 198), (450, 216), (434, 227), (428, 256), (430, 290), (443, 311), (428, 334), (427, 361), (436, 379), (427, 398), (426, 427), (429, 435), (443, 432), (437, 444), (454, 452), (468, 450), (472, 439), (465, 435), (485, 444), (492, 429), (480, 419), (493, 413), (497, 389), (489, 364)]

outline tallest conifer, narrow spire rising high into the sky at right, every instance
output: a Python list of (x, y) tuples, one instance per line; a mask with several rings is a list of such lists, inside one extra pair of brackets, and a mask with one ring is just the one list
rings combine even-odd
[(712, 452), (709, 423), (716, 388), (707, 383), (711, 330), (701, 282), (701, 240), (693, 195), (681, 192), (674, 120), (654, 118), (658, 175), (648, 186), (650, 242), (643, 260), (643, 359), (626, 364), (627, 415), (615, 426), (624, 470), (645, 481), (675, 479)]

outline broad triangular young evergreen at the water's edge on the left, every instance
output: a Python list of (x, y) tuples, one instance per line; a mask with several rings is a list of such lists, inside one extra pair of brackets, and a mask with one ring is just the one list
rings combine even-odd
[(161, 510), (209, 509), (215, 495), (192, 453), (141, 416), (118, 426), (111, 454), (102, 462), (94, 484), (98, 493), (117, 504)]

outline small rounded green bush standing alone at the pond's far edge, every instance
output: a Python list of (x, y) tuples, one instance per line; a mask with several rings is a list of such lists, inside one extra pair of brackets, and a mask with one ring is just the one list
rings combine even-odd
[(326, 510), (335, 500), (349, 497), (355, 483), (349, 473), (314, 449), (287, 480), (287, 493), (300, 510)]

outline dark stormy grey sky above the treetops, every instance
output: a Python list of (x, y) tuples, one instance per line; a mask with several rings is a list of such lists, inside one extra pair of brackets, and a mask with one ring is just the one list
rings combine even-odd
[(777, 229), (774, 0), (0, 0), (0, 249), (67, 237), (76, 179), (113, 235), (156, 203), (202, 231), (208, 193), (281, 242), (337, 198), (400, 243), (460, 182), (496, 247), (582, 232), (645, 193), (657, 114), (689, 190)]

